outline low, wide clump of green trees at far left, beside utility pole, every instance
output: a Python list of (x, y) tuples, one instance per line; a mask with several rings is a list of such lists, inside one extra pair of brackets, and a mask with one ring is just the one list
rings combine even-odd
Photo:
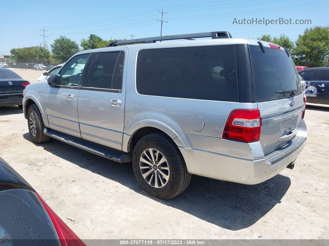
[(43, 62), (49, 63), (50, 52), (40, 46), (32, 46), (25, 48), (14, 48), (10, 50), (11, 59), (16, 62)]

